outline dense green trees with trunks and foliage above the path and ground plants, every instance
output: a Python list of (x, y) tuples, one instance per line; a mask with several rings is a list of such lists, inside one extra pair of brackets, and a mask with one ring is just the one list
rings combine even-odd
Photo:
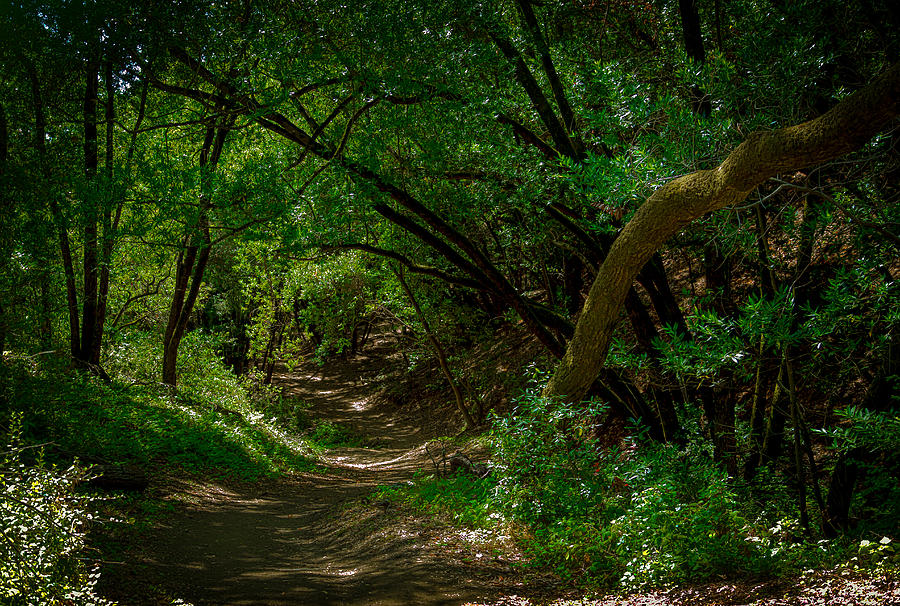
[(175, 387), (207, 331), (267, 384), (402, 326), (474, 427), (454, 356), (513, 328), (540, 406), (787, 469), (807, 529), (807, 486), (830, 535), (896, 472), (889, 2), (29, 0), (0, 32), (4, 359), (112, 381), (152, 335)]

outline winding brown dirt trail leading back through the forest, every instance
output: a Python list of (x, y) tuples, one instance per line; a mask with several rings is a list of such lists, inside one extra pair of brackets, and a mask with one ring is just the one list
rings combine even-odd
[(188, 504), (142, 546), (144, 582), (198, 606), (451, 605), (516, 593), (508, 562), (461, 556), (448, 550), (457, 544), (448, 529), (423, 527), (421, 516), (367, 499), (432, 467), (428, 419), (418, 423), (373, 404), (370, 385), (394, 363), (391, 354), (380, 343), (350, 360), (322, 368), (306, 362), (277, 376), (310, 416), (350, 427), (378, 447), (330, 450), (323, 473), (259, 485), (173, 481)]

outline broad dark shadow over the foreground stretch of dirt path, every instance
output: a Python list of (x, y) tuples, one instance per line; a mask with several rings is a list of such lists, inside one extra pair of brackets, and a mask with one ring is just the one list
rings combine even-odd
[(460, 604), (496, 591), (501, 565), (445, 560), (385, 504), (343, 507), (372, 487), (336, 476), (258, 496), (204, 486), (159, 529), (145, 572), (196, 604)]

